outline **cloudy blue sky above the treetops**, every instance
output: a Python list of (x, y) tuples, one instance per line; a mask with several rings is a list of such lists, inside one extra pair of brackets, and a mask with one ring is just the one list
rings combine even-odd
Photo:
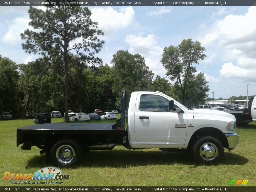
[[(45, 10), (45, 7), (38, 6)], [(20, 33), (32, 29), (28, 6), (0, 6), (0, 54), (16, 64), (39, 56), (22, 50)], [(89, 6), (104, 32), (98, 57), (110, 65), (113, 54), (141, 54), (149, 69), (166, 77), (163, 49), (183, 39), (201, 42), (206, 58), (195, 65), (209, 82), (208, 97), (256, 95), (256, 6)], [(168, 79), (168, 77), (167, 77)], [(249, 85), (247, 85), (249, 84)], [(214, 92), (214, 95), (213, 93)]]

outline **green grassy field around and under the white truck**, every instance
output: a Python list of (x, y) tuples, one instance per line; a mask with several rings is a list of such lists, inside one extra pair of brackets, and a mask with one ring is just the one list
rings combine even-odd
[[(56, 122), (63, 119), (52, 119)], [(0, 121), (0, 186), (13, 186), (3, 179), (4, 171), (25, 174), (51, 166), (45, 165), (45, 154), (40, 155), (37, 147), (31, 151), (16, 147), (16, 129), (28, 125), (33, 125), (33, 119)], [(215, 166), (197, 165), (187, 153), (118, 146), (111, 151), (90, 151), (79, 167), (61, 169), (70, 175), (62, 186), (228, 186), (231, 179), (249, 179), (247, 186), (256, 186), (256, 123), (239, 127), (236, 132), (238, 146), (231, 153), (225, 149), (223, 160)]]

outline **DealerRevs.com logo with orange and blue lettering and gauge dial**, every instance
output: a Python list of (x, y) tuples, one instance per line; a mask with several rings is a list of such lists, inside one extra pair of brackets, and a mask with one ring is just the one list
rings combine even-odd
[(57, 167), (44, 167), (34, 173), (10, 173), (9, 171), (5, 171), (3, 179), (10, 180), (11, 184), (51, 185), (63, 184), (63, 180), (69, 180), (69, 176), (70, 175), (63, 174)]

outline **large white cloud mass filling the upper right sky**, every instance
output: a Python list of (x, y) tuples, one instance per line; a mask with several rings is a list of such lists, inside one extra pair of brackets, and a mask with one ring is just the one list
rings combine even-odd
[[(225, 9), (219, 10), (218, 13), (225, 14)], [(204, 46), (214, 43), (215, 46), (224, 49), (220, 57), (226, 63), (222, 66), (219, 77), (250, 80), (254, 76), (253, 73), (256, 72), (255, 18), (256, 6), (249, 7), (244, 15), (229, 14), (209, 27), (208, 33), (201, 39)]]

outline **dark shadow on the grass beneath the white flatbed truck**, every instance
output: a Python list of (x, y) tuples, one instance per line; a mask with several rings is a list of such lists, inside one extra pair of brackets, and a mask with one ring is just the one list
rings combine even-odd
[[(234, 153), (224, 153), (219, 164), (244, 165), (248, 159)], [(194, 168), (195, 163), (191, 153), (185, 152), (165, 152), (148, 150), (112, 150), (112, 151), (90, 151), (85, 153), (79, 166), (81, 167), (113, 167), (126, 168), (148, 165), (189, 165)], [(52, 166), (52, 163), (48, 163)], [(218, 165), (218, 164), (217, 164)], [(27, 167), (45, 167), (45, 154), (37, 155), (27, 162)]]

